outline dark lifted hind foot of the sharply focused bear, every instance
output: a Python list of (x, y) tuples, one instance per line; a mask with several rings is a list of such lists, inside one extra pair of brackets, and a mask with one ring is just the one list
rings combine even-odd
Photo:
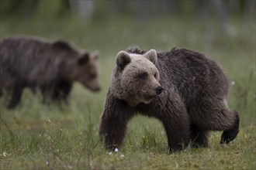
[[(233, 111), (233, 110), (230, 110), (230, 111)], [(220, 139), (220, 144), (228, 144), (228, 143), (230, 143), (230, 141), (233, 141), (234, 138), (237, 137), (237, 134), (239, 132), (240, 119), (237, 114), (237, 111), (233, 111), (233, 112), (236, 115), (236, 121), (232, 128), (230, 128), (227, 131), (223, 131), (223, 134), (221, 135), (221, 139)]]

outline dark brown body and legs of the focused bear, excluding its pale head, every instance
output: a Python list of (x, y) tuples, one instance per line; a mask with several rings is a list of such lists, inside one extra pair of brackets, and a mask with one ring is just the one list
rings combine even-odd
[[(138, 48), (127, 52), (146, 53)], [(106, 148), (122, 145), (126, 125), (136, 114), (156, 117), (163, 123), (170, 151), (180, 150), (190, 141), (194, 147), (209, 147), (209, 131), (223, 131), (221, 144), (236, 138), (239, 116), (227, 107), (229, 80), (218, 63), (189, 49), (171, 49), (157, 53), (156, 66), (164, 92), (150, 104), (130, 107), (111, 90), (107, 93), (99, 127)], [(113, 70), (112, 75), (117, 74)]]

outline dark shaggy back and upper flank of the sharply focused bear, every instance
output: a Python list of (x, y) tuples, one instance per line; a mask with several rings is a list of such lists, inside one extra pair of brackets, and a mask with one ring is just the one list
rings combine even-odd
[(165, 88), (177, 90), (185, 103), (206, 93), (227, 97), (227, 76), (208, 56), (189, 49), (172, 49), (168, 53), (157, 53), (157, 57), (160, 83)]

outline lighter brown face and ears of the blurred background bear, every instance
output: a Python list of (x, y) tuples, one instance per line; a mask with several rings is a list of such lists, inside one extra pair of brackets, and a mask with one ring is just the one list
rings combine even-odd
[[(71, 80), (80, 82), (92, 91), (100, 90), (98, 53), (84, 53), (73, 63), (69, 73)], [(75, 66), (74, 66), (75, 65)]]

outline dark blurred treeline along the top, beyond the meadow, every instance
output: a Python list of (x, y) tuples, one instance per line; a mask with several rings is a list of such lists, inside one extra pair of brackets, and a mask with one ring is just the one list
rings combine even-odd
[(78, 16), (91, 19), (133, 17), (147, 22), (150, 18), (170, 15), (217, 19), (228, 17), (244, 21), (255, 16), (256, 0), (1, 0), (1, 19), (29, 18), (37, 15), (50, 18)]

